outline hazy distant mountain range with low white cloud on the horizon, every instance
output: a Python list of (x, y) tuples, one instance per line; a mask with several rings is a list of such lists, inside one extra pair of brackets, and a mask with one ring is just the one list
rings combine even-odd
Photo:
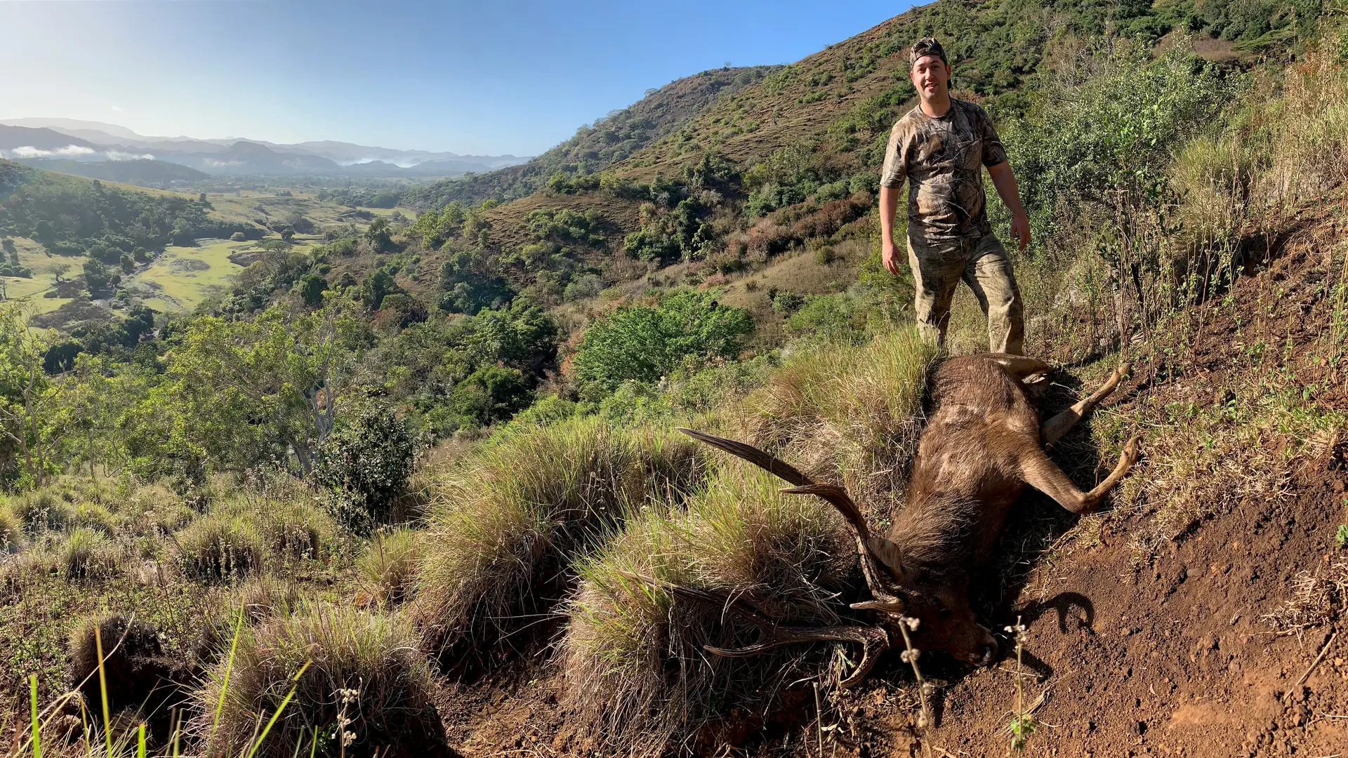
[[(528, 161), (515, 155), (458, 155), (426, 150), (394, 150), (346, 142), (278, 144), (239, 138), (195, 139), (144, 136), (101, 121), (75, 119), (0, 120), (0, 158), (67, 173), (88, 163), (136, 162), (147, 175), (179, 174), (152, 163), (174, 163), (206, 175), (283, 177), (326, 174), (349, 177), (458, 177)], [(65, 167), (57, 167), (61, 162)], [(104, 171), (128, 175), (120, 171)], [(104, 177), (98, 177), (104, 178)], [(190, 175), (173, 175), (190, 179)], [(200, 177), (198, 177), (200, 178)], [(120, 179), (136, 181), (136, 179)], [(148, 179), (171, 181), (171, 179)]]

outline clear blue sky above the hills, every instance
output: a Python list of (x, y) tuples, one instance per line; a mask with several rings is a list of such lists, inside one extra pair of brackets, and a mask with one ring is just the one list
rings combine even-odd
[(0, 1), (0, 117), (534, 155), (647, 88), (798, 61), (910, 5)]

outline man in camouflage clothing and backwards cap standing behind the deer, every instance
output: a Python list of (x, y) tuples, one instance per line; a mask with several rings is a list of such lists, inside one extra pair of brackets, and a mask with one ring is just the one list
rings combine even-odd
[(1011, 233), (1023, 251), (1030, 220), (992, 120), (973, 103), (950, 97), (950, 63), (941, 43), (921, 39), (909, 55), (921, 103), (894, 124), (880, 171), (882, 260), (899, 274), (894, 214), (909, 181), (909, 267), (917, 321), (925, 339), (945, 343), (950, 298), (962, 278), (988, 318), (988, 349), (1023, 355), (1024, 317), (1011, 259), (988, 224), (983, 170), (1011, 210)]

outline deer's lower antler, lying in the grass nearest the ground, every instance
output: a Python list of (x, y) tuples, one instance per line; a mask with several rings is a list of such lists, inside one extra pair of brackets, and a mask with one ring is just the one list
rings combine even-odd
[(890, 634), (884, 627), (879, 626), (817, 626), (817, 627), (783, 627), (779, 626), (772, 619), (741, 607), (735, 600), (727, 602), (705, 589), (698, 589), (696, 587), (683, 587), (681, 584), (673, 584), (663, 581), (651, 576), (643, 576), (639, 573), (631, 573), (625, 571), (619, 571), (619, 576), (631, 579), (634, 581), (643, 581), (652, 587), (659, 587), (671, 595), (687, 597), (690, 600), (697, 600), (701, 603), (708, 603), (710, 606), (717, 606), (729, 611), (744, 619), (745, 622), (754, 624), (759, 630), (759, 641), (754, 645), (745, 645), (743, 647), (716, 647), (714, 645), (704, 645), (702, 649), (713, 655), (724, 655), (727, 658), (744, 658), (748, 655), (758, 655), (759, 653), (766, 653), (774, 647), (782, 647), (783, 645), (797, 645), (801, 642), (855, 642), (861, 646), (861, 661), (856, 665), (847, 678), (838, 682), (840, 688), (852, 687), (853, 684), (865, 678), (865, 674), (871, 673), (875, 668), (876, 658), (882, 651), (890, 647)]

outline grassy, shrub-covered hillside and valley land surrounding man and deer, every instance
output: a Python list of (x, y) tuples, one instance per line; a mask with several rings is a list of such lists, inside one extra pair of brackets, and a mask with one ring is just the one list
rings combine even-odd
[[(1051, 456), (1143, 459), (1016, 506), (975, 600), (1022, 655), (841, 689), (851, 645), (704, 650), (758, 639), (723, 599), (863, 623), (864, 584), (832, 508), (674, 426), (902, 507), (941, 356), (875, 192), (926, 34), (1022, 186), (1046, 413), (1135, 367)], [(0, 751), (1333, 754), (1345, 182), (1340, 15), (1216, 1), (941, 0), (394, 208), (0, 162)]]

